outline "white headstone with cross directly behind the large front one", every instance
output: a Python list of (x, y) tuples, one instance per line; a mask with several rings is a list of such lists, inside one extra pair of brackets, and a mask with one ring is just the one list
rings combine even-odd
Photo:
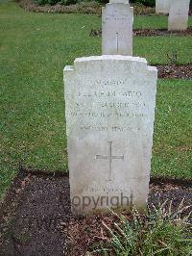
[(116, 1), (102, 9), (102, 54), (132, 56), (133, 8)]

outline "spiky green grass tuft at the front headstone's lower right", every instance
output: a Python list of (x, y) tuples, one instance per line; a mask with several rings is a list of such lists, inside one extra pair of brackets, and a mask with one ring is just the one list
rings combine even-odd
[[(182, 218), (183, 200), (177, 211), (172, 210), (172, 202), (165, 201), (156, 208), (148, 207), (146, 214), (139, 214), (132, 208), (131, 218), (116, 215), (119, 221), (109, 227), (109, 238), (93, 251), (96, 255), (116, 256), (189, 256), (192, 255), (192, 225), (189, 222), (191, 213)], [(102, 254), (101, 254), (102, 253)]]

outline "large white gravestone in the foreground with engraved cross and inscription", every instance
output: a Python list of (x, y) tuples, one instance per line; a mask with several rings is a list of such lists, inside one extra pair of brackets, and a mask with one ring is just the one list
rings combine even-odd
[(120, 55), (64, 68), (72, 212), (146, 206), (156, 106), (156, 67)]

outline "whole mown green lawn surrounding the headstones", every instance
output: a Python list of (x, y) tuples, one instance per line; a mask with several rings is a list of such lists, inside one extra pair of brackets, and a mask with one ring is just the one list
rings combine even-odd
[[(192, 26), (192, 17), (189, 20)], [(135, 16), (134, 28), (166, 28), (166, 16)], [(29, 13), (0, 4), (0, 193), (18, 166), (66, 170), (62, 69), (76, 57), (100, 55), (90, 38), (101, 17)], [(133, 55), (150, 64), (192, 63), (192, 37), (133, 38)], [(191, 178), (192, 81), (158, 80), (152, 175)]]

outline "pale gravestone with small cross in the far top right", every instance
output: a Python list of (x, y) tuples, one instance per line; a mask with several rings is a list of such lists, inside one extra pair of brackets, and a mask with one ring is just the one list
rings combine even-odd
[(190, 0), (171, 0), (169, 9), (169, 30), (186, 30)]

